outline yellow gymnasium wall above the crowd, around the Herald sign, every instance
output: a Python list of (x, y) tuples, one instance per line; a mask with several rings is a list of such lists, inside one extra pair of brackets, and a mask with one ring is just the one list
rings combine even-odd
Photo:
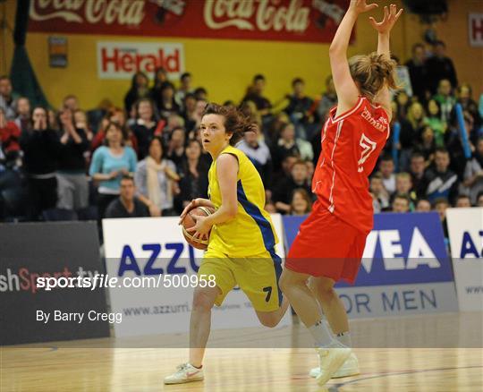
[[(9, 24), (14, 24), (15, 1), (7, 0), (6, 13)], [(377, 1), (378, 4), (388, 2)], [(395, 3), (401, 5), (400, 0)], [(460, 72), (460, 79), (470, 81), (475, 91), (481, 90), (479, 75), (472, 72), (473, 62), (467, 64), (465, 58), (478, 58), (476, 49), (464, 47), (458, 42), (467, 42), (465, 16), (469, 10), (475, 11), (479, 1), (452, 1), (451, 19), (438, 26), (441, 38), (448, 42), (448, 54), (453, 57)], [(380, 13), (379, 13), (380, 14)], [(354, 45), (350, 55), (367, 53), (376, 49), (377, 35), (369, 26), (367, 16), (360, 18), (356, 28)], [(453, 19), (456, 20), (453, 24)], [(451, 33), (445, 28), (452, 25)], [(457, 26), (454, 29), (454, 26)], [(424, 27), (419, 24), (416, 15), (405, 13), (394, 28), (392, 48), (395, 55), (405, 61), (411, 55), (412, 43), (419, 41)], [(51, 68), (48, 64), (49, 36), (62, 36), (68, 41), (68, 66)], [(242, 98), (247, 85), (255, 73), (267, 76), (267, 97), (273, 101), (290, 91), (292, 78), (298, 76), (307, 81), (307, 93), (310, 96), (320, 94), (324, 81), (330, 73), (328, 63), (328, 44), (270, 42), (228, 39), (199, 38), (148, 38), (126, 36), (97, 36), (81, 34), (47, 34), (30, 32), (27, 37), (27, 49), (30, 61), (37, 72), (47, 99), (54, 106), (59, 106), (62, 98), (75, 93), (80, 98), (82, 107), (95, 107), (103, 98), (111, 99), (121, 106), (123, 96), (129, 89), (130, 81), (100, 80), (97, 77), (97, 41), (123, 41), (159, 43), (181, 43), (184, 46), (185, 69), (193, 74), (193, 85), (208, 88), (209, 98), (214, 101)], [(481, 49), (479, 56), (481, 58)], [(2, 61), (2, 73), (9, 72), (13, 54), (13, 41), (6, 39), (6, 69)]]

